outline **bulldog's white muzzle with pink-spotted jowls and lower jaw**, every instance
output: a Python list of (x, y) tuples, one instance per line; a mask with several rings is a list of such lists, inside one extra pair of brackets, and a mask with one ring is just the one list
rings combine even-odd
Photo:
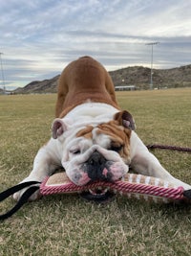
[[(117, 152), (102, 149), (98, 145), (93, 146), (84, 154), (76, 156), (71, 161), (64, 162), (63, 167), (77, 186), (96, 181), (115, 182), (129, 170)], [(86, 198), (102, 200), (106, 195), (108, 195), (107, 190), (100, 188), (88, 191)]]

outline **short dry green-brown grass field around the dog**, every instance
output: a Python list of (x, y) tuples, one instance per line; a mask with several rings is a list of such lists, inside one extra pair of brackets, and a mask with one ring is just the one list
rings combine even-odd
[[(190, 147), (191, 89), (118, 92), (135, 117), (145, 144)], [(23, 179), (36, 151), (51, 135), (55, 95), (0, 96), (0, 190)], [(163, 166), (191, 183), (186, 152), (159, 151)], [(1, 202), (4, 212), (12, 198)], [(3, 256), (179, 255), (191, 251), (190, 205), (165, 205), (117, 196), (99, 205), (74, 196), (50, 196), (26, 204), (0, 222)]]

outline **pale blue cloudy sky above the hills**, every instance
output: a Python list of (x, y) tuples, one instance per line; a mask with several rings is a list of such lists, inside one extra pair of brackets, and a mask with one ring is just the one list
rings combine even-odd
[(191, 64), (191, 0), (0, 0), (0, 88), (92, 56), (108, 71)]

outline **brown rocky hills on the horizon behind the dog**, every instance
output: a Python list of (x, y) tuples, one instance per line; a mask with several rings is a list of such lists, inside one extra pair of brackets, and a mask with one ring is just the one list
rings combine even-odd
[[(149, 89), (151, 69), (135, 66), (109, 72), (115, 86), (136, 85), (137, 89)], [(32, 81), (23, 88), (13, 91), (15, 94), (56, 92), (59, 75), (51, 80)], [(154, 88), (175, 88), (191, 86), (191, 64), (172, 69), (153, 69)]]

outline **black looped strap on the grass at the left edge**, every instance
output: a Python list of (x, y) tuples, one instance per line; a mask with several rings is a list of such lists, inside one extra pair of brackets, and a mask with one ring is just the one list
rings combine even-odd
[[(4, 192), (0, 193), (0, 201), (5, 200), (6, 198), (9, 198), (11, 195), (13, 195), (15, 192), (18, 192), (21, 189), (24, 189), (26, 187), (39, 184), (38, 181), (28, 181), (20, 183), (16, 186), (11, 187), (10, 189), (5, 190)], [(28, 199), (32, 196), (32, 194), (39, 189), (39, 186), (32, 186), (28, 190), (25, 191), (25, 193), (22, 195), (22, 197), (17, 201), (17, 203), (11, 208), (10, 211), (7, 213), (0, 215), (0, 221), (6, 220), (9, 217), (11, 217), (16, 211), (18, 211), (24, 203), (28, 201)]]

